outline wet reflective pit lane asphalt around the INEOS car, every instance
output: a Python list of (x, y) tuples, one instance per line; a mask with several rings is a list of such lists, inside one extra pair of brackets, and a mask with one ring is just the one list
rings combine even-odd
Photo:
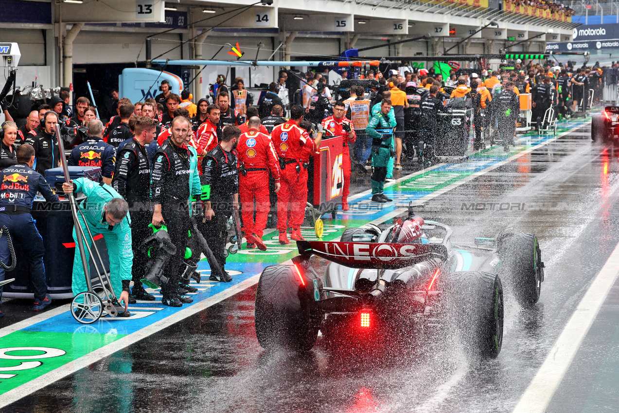
[[(305, 356), (266, 352), (254, 334), (250, 288), (3, 411), (509, 412), (619, 242), (619, 151), (589, 136), (581, 127), (417, 210), (452, 226), (454, 242), (506, 226), (539, 237), (542, 297), (521, 307), (506, 285), (496, 360), (472, 360), (458, 343), (431, 336), (371, 349), (331, 349), (319, 339)], [(616, 284), (548, 412), (618, 409), (618, 300)]]

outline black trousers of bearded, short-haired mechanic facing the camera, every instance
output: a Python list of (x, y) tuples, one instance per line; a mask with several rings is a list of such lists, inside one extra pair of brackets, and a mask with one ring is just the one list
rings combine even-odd
[(189, 231), (189, 207), (178, 203), (162, 204), (161, 213), (170, 234), (170, 241), (176, 247), (176, 254), (170, 257), (165, 266), (165, 275), (170, 278), (168, 284), (162, 287), (163, 297), (170, 296), (178, 290), (185, 264), (185, 248), (187, 247)]

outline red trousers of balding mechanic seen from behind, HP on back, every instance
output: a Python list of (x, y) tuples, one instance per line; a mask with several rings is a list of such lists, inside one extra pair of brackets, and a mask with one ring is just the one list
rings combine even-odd
[[(267, 226), (267, 218), (271, 209), (269, 200), (269, 171), (247, 172), (241, 174), (238, 189), (243, 216), (243, 231), (246, 234), (256, 234), (262, 237)], [(256, 221), (254, 221), (254, 201), (256, 202)]]

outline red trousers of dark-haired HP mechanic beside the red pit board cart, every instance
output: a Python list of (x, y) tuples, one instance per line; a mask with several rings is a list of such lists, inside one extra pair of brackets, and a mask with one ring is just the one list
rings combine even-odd
[(280, 232), (301, 228), (305, 218), (305, 206), (308, 202), (308, 171), (301, 166), (297, 173), (297, 164), (286, 165), (282, 169), (280, 184), (281, 189), (277, 193), (277, 229)]

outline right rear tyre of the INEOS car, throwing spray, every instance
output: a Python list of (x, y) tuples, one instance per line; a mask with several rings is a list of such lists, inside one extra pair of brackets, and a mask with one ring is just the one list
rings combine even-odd
[(465, 346), (495, 359), (503, 344), (503, 286), (498, 275), (462, 271), (448, 276), (449, 313)]

